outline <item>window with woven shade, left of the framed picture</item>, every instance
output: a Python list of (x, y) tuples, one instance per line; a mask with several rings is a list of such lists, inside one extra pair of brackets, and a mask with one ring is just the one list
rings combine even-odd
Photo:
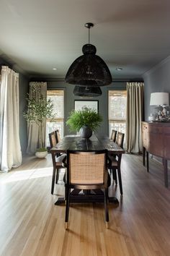
[(63, 121), (64, 121), (64, 90), (48, 90), (47, 98), (53, 101), (53, 114), (55, 119), (47, 119), (46, 121), (46, 145), (50, 146), (48, 134), (59, 129), (61, 137), (63, 137)]

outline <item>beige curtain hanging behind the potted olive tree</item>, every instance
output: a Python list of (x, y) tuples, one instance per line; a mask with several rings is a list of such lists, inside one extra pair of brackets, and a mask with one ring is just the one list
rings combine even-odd
[[(35, 90), (36, 89), (36, 90)], [(47, 82), (30, 82), (30, 93), (29, 97), (40, 98), (40, 95), (46, 97), (47, 95)], [(46, 129), (46, 120), (42, 124), (42, 144), (45, 145), (45, 129)], [(28, 144), (27, 144), (27, 153), (33, 154), (36, 151), (36, 148), (39, 148), (40, 141), (40, 130), (37, 124), (32, 123), (28, 124), (27, 127), (28, 135)]]

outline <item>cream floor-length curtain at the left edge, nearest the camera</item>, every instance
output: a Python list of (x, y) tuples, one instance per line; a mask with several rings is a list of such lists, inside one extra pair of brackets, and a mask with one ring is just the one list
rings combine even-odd
[(0, 168), (9, 171), (22, 163), (19, 141), (19, 74), (1, 67)]

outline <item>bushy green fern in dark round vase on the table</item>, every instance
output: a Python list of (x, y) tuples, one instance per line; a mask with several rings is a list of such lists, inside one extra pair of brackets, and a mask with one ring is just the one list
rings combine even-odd
[(84, 108), (79, 111), (71, 111), (66, 124), (71, 131), (80, 132), (82, 138), (88, 139), (91, 137), (92, 132), (97, 131), (101, 122), (102, 116), (97, 111), (91, 108)]

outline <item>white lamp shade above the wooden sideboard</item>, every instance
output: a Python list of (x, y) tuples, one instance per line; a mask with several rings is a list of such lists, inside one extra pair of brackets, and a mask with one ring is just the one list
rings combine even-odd
[(169, 93), (151, 93), (150, 105), (169, 106)]

